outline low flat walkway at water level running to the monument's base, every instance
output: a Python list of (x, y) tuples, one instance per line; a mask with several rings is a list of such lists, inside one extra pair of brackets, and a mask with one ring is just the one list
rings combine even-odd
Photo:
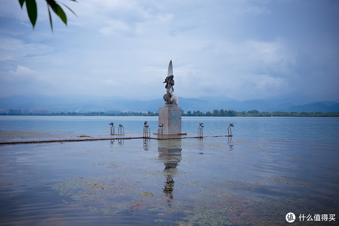
[[(51, 134), (53, 136), (53, 133)], [(99, 141), (99, 140), (129, 140), (129, 139), (154, 139), (154, 140), (174, 140), (174, 139), (186, 139), (186, 138), (206, 138), (206, 137), (231, 137), (228, 135), (213, 135), (203, 134), (202, 137), (198, 137), (198, 133), (187, 133), (185, 135), (170, 135), (163, 136), (162, 139), (158, 138), (158, 135), (151, 134), (149, 137), (144, 137), (143, 133), (125, 133), (125, 135), (91, 135), (91, 136), (72, 136), (62, 135), (57, 137), (16, 137), (16, 138), (3, 138), (0, 141), (0, 145), (7, 144), (31, 144), (31, 143), (51, 143), (51, 142), (79, 142), (79, 141)]]

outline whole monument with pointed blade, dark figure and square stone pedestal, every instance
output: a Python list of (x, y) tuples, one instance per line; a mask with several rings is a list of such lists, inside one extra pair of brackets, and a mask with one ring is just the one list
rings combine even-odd
[(168, 65), (166, 83), (166, 94), (163, 96), (165, 103), (159, 107), (159, 124), (163, 124), (163, 135), (186, 135), (181, 133), (181, 107), (178, 107), (178, 97), (173, 94), (174, 76), (172, 60)]

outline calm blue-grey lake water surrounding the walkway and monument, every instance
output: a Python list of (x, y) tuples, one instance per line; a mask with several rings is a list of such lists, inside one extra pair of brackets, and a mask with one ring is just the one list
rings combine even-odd
[[(0, 130), (145, 120), (155, 132), (157, 117), (118, 116), (0, 116)], [(337, 225), (339, 118), (183, 117), (182, 132), (200, 122), (234, 136), (1, 146), (0, 225)]]

